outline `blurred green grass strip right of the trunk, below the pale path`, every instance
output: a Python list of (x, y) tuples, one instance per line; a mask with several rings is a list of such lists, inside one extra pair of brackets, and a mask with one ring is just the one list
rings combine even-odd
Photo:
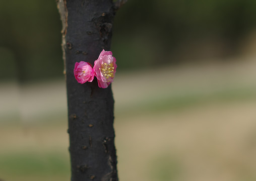
[(228, 88), (213, 93), (194, 93), (187, 92), (184, 95), (158, 95), (151, 99), (145, 100), (133, 106), (127, 106), (117, 114), (127, 115), (133, 113), (136, 115), (144, 113), (161, 114), (161, 112), (175, 112), (189, 107), (203, 106), (212, 103), (228, 102), (246, 102), (256, 99), (256, 87)]

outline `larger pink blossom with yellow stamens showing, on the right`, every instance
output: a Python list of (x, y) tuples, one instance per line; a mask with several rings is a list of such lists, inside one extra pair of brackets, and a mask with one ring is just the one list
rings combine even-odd
[(94, 75), (98, 79), (98, 85), (101, 88), (107, 86), (113, 81), (116, 70), (116, 59), (112, 56), (111, 51), (102, 50), (99, 58), (94, 61)]

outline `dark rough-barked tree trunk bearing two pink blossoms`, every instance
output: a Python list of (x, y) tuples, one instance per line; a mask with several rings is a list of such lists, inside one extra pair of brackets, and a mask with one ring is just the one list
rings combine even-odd
[(92, 65), (102, 49), (110, 50), (112, 22), (122, 1), (57, 0), (62, 21), (62, 49), (68, 94), (72, 181), (116, 181), (116, 151), (111, 85), (80, 84), (74, 77), (76, 62)]

